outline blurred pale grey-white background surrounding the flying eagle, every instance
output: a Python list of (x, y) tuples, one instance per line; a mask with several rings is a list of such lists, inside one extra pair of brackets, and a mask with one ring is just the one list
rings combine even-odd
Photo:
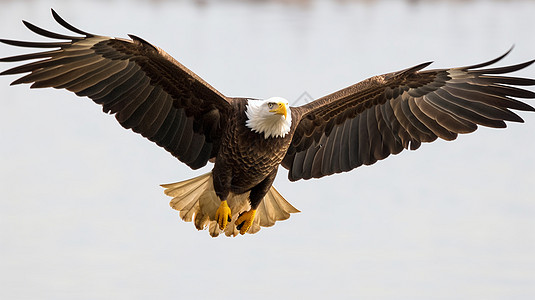
[[(502, 65), (535, 58), (531, 1), (1, 1), (0, 36), (39, 39), (21, 19), (58, 29), (51, 7), (89, 32), (139, 35), (229, 96), (318, 98), (513, 44)], [(302, 213), (212, 239), (158, 186), (209, 167), (191, 171), (86, 98), (14, 79), (0, 78), (2, 299), (535, 298), (535, 114), (321, 180), (281, 170), (275, 186)]]

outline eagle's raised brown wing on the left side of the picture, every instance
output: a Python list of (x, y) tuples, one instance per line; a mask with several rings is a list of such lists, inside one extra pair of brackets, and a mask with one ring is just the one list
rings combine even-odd
[(225, 96), (143, 39), (97, 36), (65, 22), (54, 10), (54, 19), (83, 36), (50, 32), (24, 21), (31, 31), (60, 41), (0, 42), (30, 48), (55, 48), (0, 59), (26, 63), (0, 75), (27, 75), (12, 84), (33, 83), (32, 88), (64, 88), (87, 96), (115, 114), (131, 128), (193, 169), (204, 166), (219, 149), (222, 128), (231, 106)]

